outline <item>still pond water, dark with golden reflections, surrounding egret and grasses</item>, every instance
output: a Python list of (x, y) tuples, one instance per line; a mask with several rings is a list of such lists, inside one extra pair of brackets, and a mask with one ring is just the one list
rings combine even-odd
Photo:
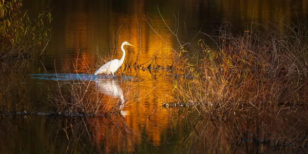
[[(197, 44), (200, 38), (210, 45), (210, 40), (198, 32), (217, 34), (215, 29), (223, 19), (233, 24), (235, 32), (242, 31), (244, 23), (252, 21), (283, 28), (285, 23), (298, 22), (306, 16), (308, 2), (55, 0), (24, 1), (23, 9), (35, 18), (47, 7), (52, 9), (51, 40), (44, 56), (31, 60), (24, 78), (18, 80), (25, 89), (22, 98), (27, 102), (27, 110), (51, 110), (46, 87), (56, 87), (59, 81), (62, 84), (76, 81), (74, 84), (93, 85), (92, 88), (104, 95), (100, 101), (102, 105), (107, 105), (108, 109), (118, 106), (121, 113), (111, 118), (6, 116), (0, 120), (2, 153), (302, 152), (288, 148), (292, 147), (287, 146), (292, 141), (279, 149), (271, 144), (247, 148), (245, 138), (239, 137), (243, 134), (254, 136), (258, 128), (276, 125), (273, 121), (278, 119), (279, 125), (264, 134), (278, 128), (282, 133), (268, 134), (269, 143), (290, 134), (294, 138), (304, 138), (305, 134), (300, 132), (306, 125), (293, 126), (294, 131), (298, 130), (294, 133), (286, 131), (291, 126), (283, 127), (301, 122), (298, 117), (302, 118), (303, 114), (294, 113), (297, 118), (284, 120), (269, 116), (264, 123), (237, 118), (225, 123), (222, 118), (213, 121), (208, 116), (205, 122), (194, 123), (177, 109), (162, 108), (162, 103), (172, 101), (171, 96), (175, 94), (172, 73), (168, 71), (136, 72), (122, 67), (115, 73), (115, 79), (92, 73), (104, 64), (103, 60), (120, 59), (119, 46), (124, 41), (135, 46), (127, 48), (126, 64), (133, 65), (138, 57), (138, 64), (145, 67), (153, 60), (166, 67), (175, 61), (172, 49), (179, 49), (185, 43)], [(258, 115), (254, 118), (262, 119)], [(233, 129), (235, 123), (242, 128), (243, 134)]]

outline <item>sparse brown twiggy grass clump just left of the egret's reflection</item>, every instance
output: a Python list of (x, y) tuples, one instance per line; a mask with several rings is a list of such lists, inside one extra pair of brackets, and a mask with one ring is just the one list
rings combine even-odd
[[(48, 98), (59, 114), (99, 114), (104, 106), (98, 99), (93, 82), (58, 81), (54, 89), (49, 89)], [(97, 101), (93, 101), (97, 100)]]

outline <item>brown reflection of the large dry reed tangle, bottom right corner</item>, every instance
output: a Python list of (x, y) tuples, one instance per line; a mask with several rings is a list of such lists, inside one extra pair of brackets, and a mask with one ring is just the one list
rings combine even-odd
[(179, 128), (185, 131), (179, 129), (176, 133), (183, 136), (179, 144), (189, 144), (189, 151), (194, 153), (262, 153), (276, 148), (301, 151), (307, 148), (307, 113), (301, 107), (296, 112), (289, 110), (266, 106), (235, 114), (205, 114), (202, 119), (194, 111), (178, 120)]

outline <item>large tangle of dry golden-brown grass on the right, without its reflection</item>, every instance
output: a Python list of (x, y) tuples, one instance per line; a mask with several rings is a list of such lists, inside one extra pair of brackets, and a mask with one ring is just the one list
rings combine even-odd
[(227, 111), (242, 110), (244, 104), (305, 104), (308, 27), (285, 25), (281, 30), (252, 23), (240, 34), (231, 28), (223, 22), (219, 36), (207, 35), (216, 48), (199, 40), (202, 63), (184, 64), (192, 80), (175, 82), (180, 98)]

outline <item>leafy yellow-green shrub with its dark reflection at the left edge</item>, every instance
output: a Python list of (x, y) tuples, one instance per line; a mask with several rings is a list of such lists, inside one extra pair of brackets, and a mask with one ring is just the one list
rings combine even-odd
[(28, 110), (27, 89), (20, 84), (28, 69), (29, 60), (41, 55), (51, 28), (50, 12), (42, 12), (30, 20), (27, 11), (21, 12), (22, 1), (0, 2), (0, 112)]

